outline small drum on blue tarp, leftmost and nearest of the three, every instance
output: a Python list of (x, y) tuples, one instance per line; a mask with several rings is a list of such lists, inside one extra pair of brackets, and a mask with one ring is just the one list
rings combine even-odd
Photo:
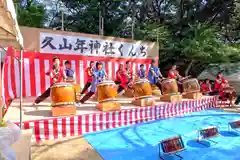
[(165, 139), (161, 141), (163, 153), (176, 153), (184, 150), (184, 143), (181, 136)]

